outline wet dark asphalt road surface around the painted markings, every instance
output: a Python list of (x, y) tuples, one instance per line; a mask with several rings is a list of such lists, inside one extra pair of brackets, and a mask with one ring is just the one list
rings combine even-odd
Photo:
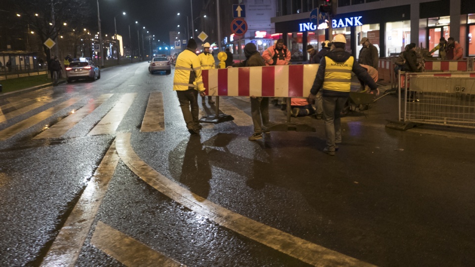
[[(143, 62), (103, 70), (95, 82), (0, 96), (6, 117), (0, 138), (24, 128), (0, 141), (0, 266), (41, 265), (119, 140), (129, 140), (151, 169), (194, 193), (203, 209), (209, 201), (264, 224), (263, 237), (237, 232), (170, 198), (147, 182), (144, 172), (131, 169), (118, 146), (117, 167), (108, 172), (110, 182), (74, 266), (140, 266), (93, 240), (101, 225), (186, 266), (309, 266), (291, 256), (303, 246), (287, 249), (283, 243), (276, 250), (260, 241), (270, 235), (268, 228), (360, 261), (355, 265), (475, 265), (473, 132), (384, 128), (385, 119), (395, 118), (397, 104), (387, 96), (368, 118), (352, 113), (342, 120), (343, 143), (331, 157), (322, 152), (322, 121), (297, 118), (316, 133), (272, 132), (248, 141), (248, 99), (222, 97), (244, 112), (239, 116), (244, 123), (206, 126), (200, 136), (190, 136), (172, 82), (173, 70), (150, 75)], [(165, 130), (140, 132), (154, 92), (162, 92)], [(114, 133), (89, 135), (127, 93), (135, 98), (123, 118), (115, 115), (120, 123)], [(65, 134), (35, 138), (104, 94), (111, 95)], [(64, 102), (64, 108), (48, 112)], [(35, 103), (43, 104), (27, 110)], [(207, 104), (203, 112), (209, 110)], [(273, 121), (285, 121), (278, 108), (270, 113)], [(123, 137), (129, 133), (130, 139)], [(132, 250), (125, 241), (118, 244)], [(325, 258), (314, 265), (319, 264), (341, 266)]]

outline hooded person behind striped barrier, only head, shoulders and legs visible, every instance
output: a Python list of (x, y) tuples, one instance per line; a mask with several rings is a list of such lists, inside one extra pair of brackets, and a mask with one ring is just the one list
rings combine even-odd
[[(246, 60), (238, 64), (233, 64), (233, 67), (266, 65), (264, 58), (259, 54), (256, 45), (253, 43), (248, 43), (244, 46), (244, 55), (246, 56)], [(256, 97), (251, 95), (251, 115), (252, 123), (254, 124), (254, 134), (249, 137), (249, 140), (262, 139), (262, 125), (265, 127), (269, 125), (269, 97)], [(270, 132), (265, 131), (265, 133), (269, 134)]]

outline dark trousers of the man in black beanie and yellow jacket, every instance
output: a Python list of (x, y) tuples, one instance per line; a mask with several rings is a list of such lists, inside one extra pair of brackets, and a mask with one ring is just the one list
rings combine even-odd
[(198, 122), (198, 91), (188, 89), (186, 91), (177, 91), (178, 101), (182, 108), (183, 118), (188, 129), (199, 130)]

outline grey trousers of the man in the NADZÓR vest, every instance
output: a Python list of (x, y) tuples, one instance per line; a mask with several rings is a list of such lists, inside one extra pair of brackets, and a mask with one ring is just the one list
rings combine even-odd
[(327, 134), (327, 147), (335, 151), (335, 142), (341, 143), (341, 111), (348, 97), (323, 97), (323, 115), (325, 132)]

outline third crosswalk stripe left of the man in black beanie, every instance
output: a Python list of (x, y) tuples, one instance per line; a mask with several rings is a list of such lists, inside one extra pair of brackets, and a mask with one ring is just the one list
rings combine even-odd
[(73, 128), (77, 123), (84, 119), (87, 115), (91, 114), (98, 106), (112, 96), (111, 93), (102, 94), (93, 102), (88, 103), (84, 107), (78, 109), (68, 117), (62, 119), (57, 124), (51, 126), (49, 129), (35, 136), (33, 139), (41, 138), (57, 138)]

